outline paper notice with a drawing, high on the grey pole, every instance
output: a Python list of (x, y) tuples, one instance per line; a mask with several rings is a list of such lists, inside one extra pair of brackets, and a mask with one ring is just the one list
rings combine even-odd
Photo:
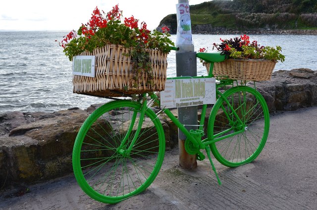
[(190, 20), (189, 3), (176, 4), (177, 35), (176, 46), (192, 45), (192, 26)]

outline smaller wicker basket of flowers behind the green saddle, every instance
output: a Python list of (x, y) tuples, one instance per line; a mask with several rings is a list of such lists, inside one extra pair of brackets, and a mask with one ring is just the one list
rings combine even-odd
[[(281, 47), (264, 47), (257, 41), (250, 42), (247, 35), (241, 35), (229, 40), (220, 38), (220, 44), (213, 44), (212, 50), (216, 49), (225, 55), (223, 62), (214, 63), (212, 74), (219, 79), (233, 80), (270, 80), (272, 71), (277, 61), (283, 62)], [(199, 52), (207, 52), (201, 48)], [(210, 64), (203, 61), (209, 71)]]

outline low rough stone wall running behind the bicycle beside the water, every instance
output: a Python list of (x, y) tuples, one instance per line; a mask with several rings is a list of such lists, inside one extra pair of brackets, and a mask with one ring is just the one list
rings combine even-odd
[[(317, 69), (314, 70), (279, 70), (273, 72), (271, 81), (258, 82), (257, 89), (270, 113), (316, 106)], [(54, 113), (0, 114), (0, 191), (71, 173), (71, 154), (78, 130), (98, 106)], [(178, 142), (177, 128), (170, 121), (161, 120), (165, 132), (169, 133), (166, 147), (173, 148)]]

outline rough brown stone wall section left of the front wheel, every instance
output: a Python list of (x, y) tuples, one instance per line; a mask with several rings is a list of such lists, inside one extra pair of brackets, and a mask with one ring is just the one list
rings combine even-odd
[[(18, 121), (11, 122), (16, 115), (20, 116)], [(74, 140), (88, 115), (81, 109), (7, 114), (11, 118), (6, 125), (10, 126), (5, 130), (7, 134), (0, 136), (0, 186), (71, 172)]]

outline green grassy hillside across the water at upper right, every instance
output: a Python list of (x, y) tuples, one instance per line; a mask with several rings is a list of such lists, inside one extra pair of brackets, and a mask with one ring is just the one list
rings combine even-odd
[[(190, 6), (192, 31), (317, 29), (317, 0), (213, 0)], [(176, 14), (160, 25), (176, 33)]]

